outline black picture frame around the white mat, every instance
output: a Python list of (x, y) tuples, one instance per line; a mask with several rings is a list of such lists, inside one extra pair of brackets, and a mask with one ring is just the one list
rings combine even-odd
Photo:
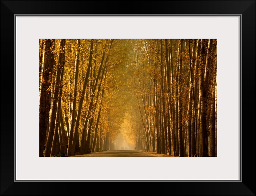
[[(1, 195), (255, 195), (254, 1), (1, 1)], [(57, 8), (57, 9), (56, 9)], [(38, 14), (239, 15), (240, 180), (15, 181), (15, 16)], [(17, 81), (16, 81), (17, 82)], [(26, 129), (24, 127), (24, 129)], [(229, 153), (227, 149), (226, 153)], [(232, 149), (231, 149), (232, 150)]]

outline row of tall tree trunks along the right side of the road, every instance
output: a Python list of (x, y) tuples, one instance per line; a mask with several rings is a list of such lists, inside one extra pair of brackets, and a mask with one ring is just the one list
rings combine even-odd
[[(175, 156), (209, 156), (210, 135), (210, 156), (215, 156), (216, 40), (146, 40), (144, 44), (147, 51), (136, 55), (133, 80), (147, 149)], [(148, 78), (141, 79), (142, 72)], [(145, 95), (153, 101), (146, 102)]]

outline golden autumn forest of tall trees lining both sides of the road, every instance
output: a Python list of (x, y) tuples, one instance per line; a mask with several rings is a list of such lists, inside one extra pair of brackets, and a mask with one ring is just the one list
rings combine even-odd
[(39, 40), (39, 156), (217, 156), (217, 40)]

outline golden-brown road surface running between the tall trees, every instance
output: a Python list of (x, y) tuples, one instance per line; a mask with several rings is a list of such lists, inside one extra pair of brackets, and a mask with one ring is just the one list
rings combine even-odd
[[(94, 153), (88, 153), (83, 155), (74, 155), (75, 157), (83, 157), (83, 156), (113, 156), (113, 157), (148, 157), (148, 156), (172, 156), (172, 155), (166, 155), (166, 154), (159, 154), (159, 153), (150, 153), (145, 152), (142, 150), (108, 150), (103, 152), (94, 152)], [(74, 157), (73, 156), (73, 157)]]

